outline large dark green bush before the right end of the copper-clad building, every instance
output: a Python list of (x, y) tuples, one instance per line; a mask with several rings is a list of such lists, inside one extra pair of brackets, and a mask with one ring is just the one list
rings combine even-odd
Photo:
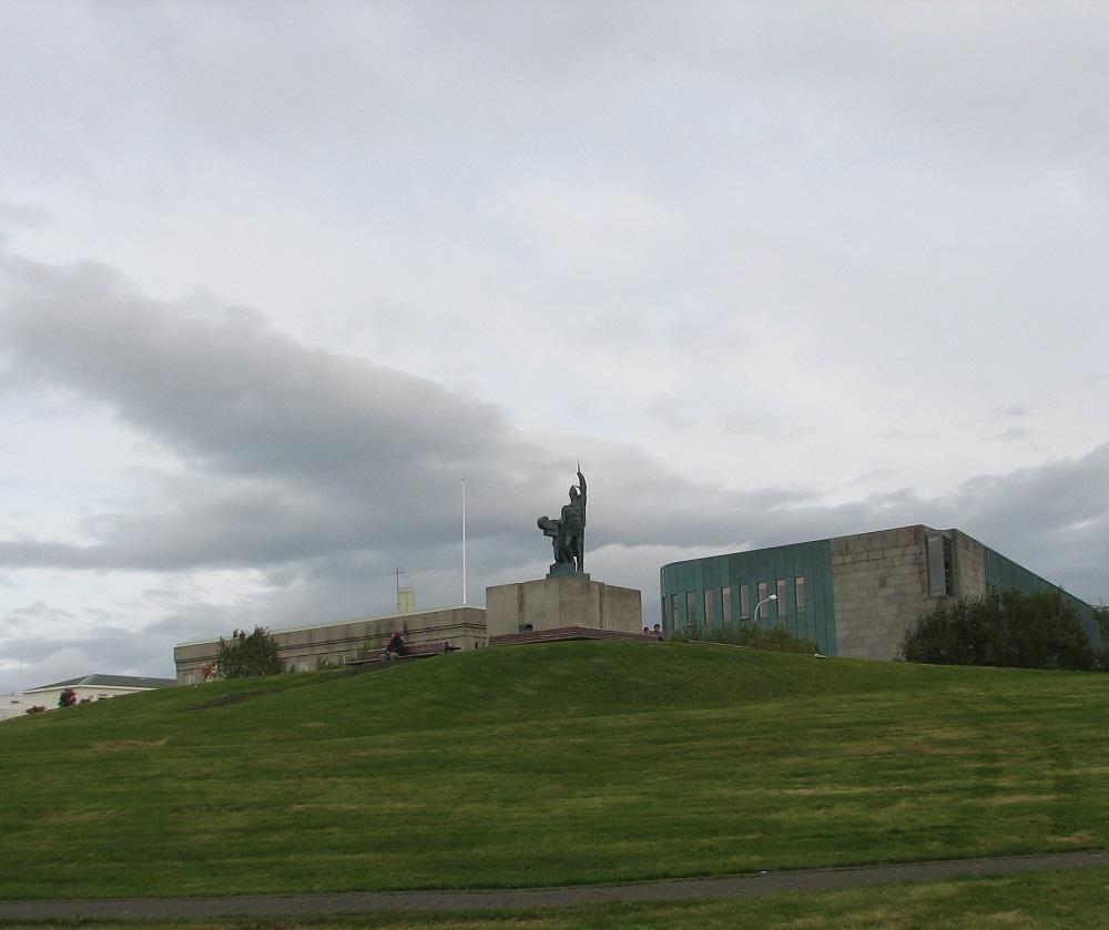
[(902, 655), (937, 665), (1098, 667), (1090, 637), (1061, 591), (994, 591), (939, 606), (905, 632)]

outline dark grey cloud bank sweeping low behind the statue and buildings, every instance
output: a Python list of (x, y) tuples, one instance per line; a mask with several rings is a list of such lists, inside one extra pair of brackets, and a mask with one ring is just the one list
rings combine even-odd
[[(252, 622), (373, 612), (368, 580), (381, 590), (399, 562), (416, 566), (414, 576), (425, 570), (425, 596), (457, 600), (442, 569), (456, 559), (460, 479), (471, 494), (480, 585), (546, 554), (535, 518), (560, 505), (579, 456), (591, 478), (591, 543), (602, 561), (606, 546), (711, 551), (924, 522), (957, 525), (1080, 596), (1109, 593), (1109, 444), (976, 478), (947, 498), (906, 490), (830, 507), (812, 491), (692, 482), (633, 447), (530, 436), (488, 403), (299, 345), (255, 313), (200, 298), (153, 299), (104, 267), (4, 255), (0, 302), (10, 378), (108, 405), (182, 464), (161, 477), (157, 493), (87, 517), (92, 542), (0, 540), (0, 565), (251, 568), (267, 571), (275, 585), (233, 607), (169, 610), (142, 644), (90, 616), (87, 635), (48, 636), (31, 647), (44, 670), (61, 655), (166, 674), (174, 641)], [(610, 580), (643, 587), (653, 612), (658, 564), (614, 556), (612, 564), (624, 576)], [(373, 606), (388, 609), (380, 600)], [(40, 603), (22, 613), (50, 611)]]

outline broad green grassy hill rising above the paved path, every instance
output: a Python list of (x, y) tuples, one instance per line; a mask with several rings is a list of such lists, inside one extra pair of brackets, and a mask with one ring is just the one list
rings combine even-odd
[(1109, 846), (1109, 675), (455, 654), (0, 726), (0, 897), (602, 882)]

